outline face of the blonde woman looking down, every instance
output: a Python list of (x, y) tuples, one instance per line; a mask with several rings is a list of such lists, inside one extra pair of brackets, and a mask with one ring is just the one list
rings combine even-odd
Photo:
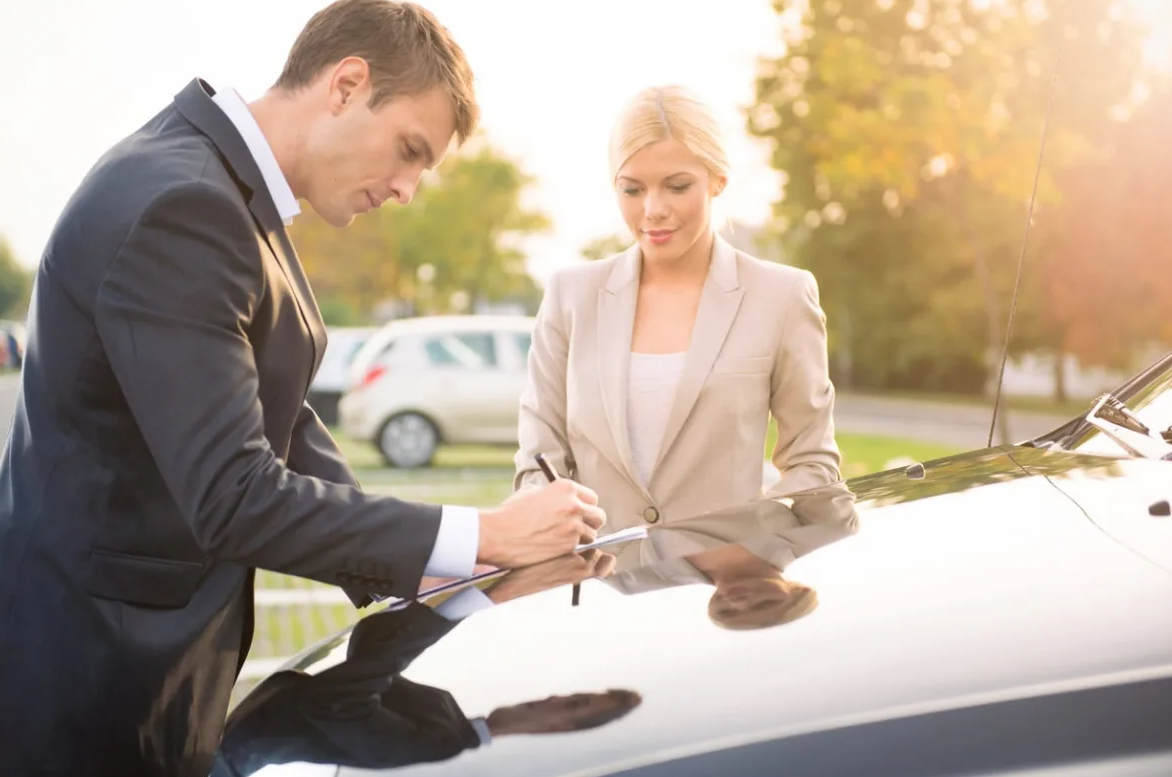
[(619, 210), (639, 241), (643, 261), (672, 264), (711, 236), (713, 197), (724, 180), (676, 139), (646, 145), (615, 177)]

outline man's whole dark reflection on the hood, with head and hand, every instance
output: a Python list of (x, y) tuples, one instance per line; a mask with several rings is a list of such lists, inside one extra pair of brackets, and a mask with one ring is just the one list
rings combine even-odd
[[(211, 777), (247, 777), (293, 762), (389, 769), (443, 761), (513, 734), (597, 728), (641, 703), (629, 690), (551, 696), (468, 718), (447, 690), (402, 676), (415, 659), (479, 607), (606, 574), (613, 557), (592, 551), (509, 572), (435, 608), (408, 602), (354, 627), (342, 663), (309, 675), (279, 672), (230, 716)], [(475, 593), (473, 593), (475, 592)]]

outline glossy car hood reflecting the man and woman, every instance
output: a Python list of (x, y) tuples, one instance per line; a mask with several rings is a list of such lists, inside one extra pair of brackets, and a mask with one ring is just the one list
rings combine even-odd
[(1172, 675), (1172, 575), (1050, 482), (1072, 471), (1127, 488), (1113, 459), (993, 449), (652, 530), (578, 606), (533, 573), (455, 625), (390, 608), (261, 683), (217, 773), (602, 775)]

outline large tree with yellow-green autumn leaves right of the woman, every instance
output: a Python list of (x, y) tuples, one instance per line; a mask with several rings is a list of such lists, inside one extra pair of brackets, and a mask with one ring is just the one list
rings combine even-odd
[[(958, 373), (921, 387), (989, 387), (1059, 43), (1043, 204), (1137, 73), (1113, 5), (812, 0), (785, 54), (762, 62), (747, 118), (785, 177), (779, 239), (845, 320), (831, 316), (831, 336), (856, 377), (914, 381), (906, 368), (928, 356)], [(892, 318), (908, 325), (894, 338)], [(1036, 345), (1033, 320), (1018, 323), (1017, 349)]]

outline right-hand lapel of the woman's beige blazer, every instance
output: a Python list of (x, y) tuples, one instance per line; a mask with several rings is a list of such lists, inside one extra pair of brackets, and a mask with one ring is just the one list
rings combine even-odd
[(653, 479), (655, 470), (670, 450), (691, 408), (700, 398), (700, 391), (724, 346), (729, 329), (732, 328), (743, 297), (744, 289), (737, 284), (736, 250), (717, 236), (713, 244), (708, 278), (700, 294), (700, 308), (691, 330), (691, 342), (688, 346), (688, 355), (684, 356), (683, 375), (680, 376), (672, 413), (663, 430), (663, 442), (660, 444), (659, 457), (652, 469)]

